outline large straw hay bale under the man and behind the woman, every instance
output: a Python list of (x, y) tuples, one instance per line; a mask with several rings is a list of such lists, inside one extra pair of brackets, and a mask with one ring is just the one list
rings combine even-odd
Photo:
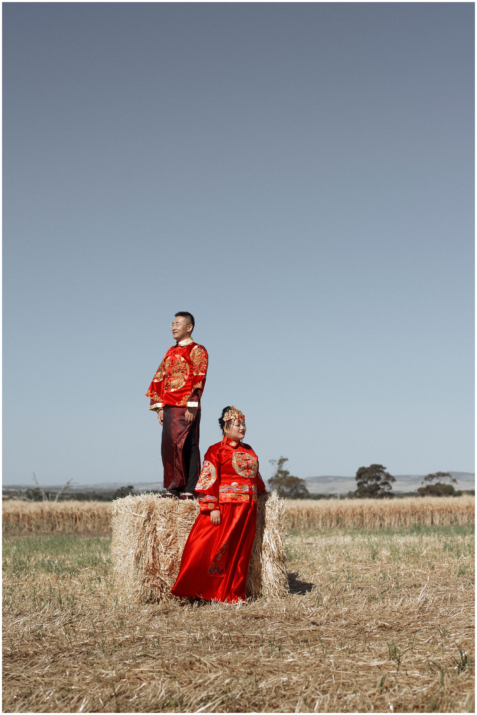
[[(114, 502), (112, 558), (118, 590), (132, 601), (164, 601), (177, 578), (182, 551), (199, 513), (197, 501), (129, 495)], [(259, 497), (257, 535), (247, 576), (247, 596), (287, 594), (285, 501)]]

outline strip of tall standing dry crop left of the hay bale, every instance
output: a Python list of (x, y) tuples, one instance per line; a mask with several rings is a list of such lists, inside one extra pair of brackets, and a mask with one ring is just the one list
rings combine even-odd
[(111, 509), (111, 503), (103, 501), (30, 503), (12, 499), (2, 503), (2, 529), (7, 534), (107, 531), (111, 528)]

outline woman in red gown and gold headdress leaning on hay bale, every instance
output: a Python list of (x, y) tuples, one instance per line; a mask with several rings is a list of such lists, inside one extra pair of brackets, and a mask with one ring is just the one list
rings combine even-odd
[(207, 450), (197, 482), (200, 514), (184, 547), (171, 593), (206, 601), (245, 600), (257, 526), (257, 494), (266, 494), (258, 458), (245, 437), (245, 416), (226, 407), (222, 442)]

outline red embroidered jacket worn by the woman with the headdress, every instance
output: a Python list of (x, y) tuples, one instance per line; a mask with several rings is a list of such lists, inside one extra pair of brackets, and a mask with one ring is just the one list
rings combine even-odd
[(220, 504), (257, 502), (266, 494), (258, 471), (258, 457), (250, 445), (227, 439), (209, 447), (195, 488), (200, 511), (220, 509)]

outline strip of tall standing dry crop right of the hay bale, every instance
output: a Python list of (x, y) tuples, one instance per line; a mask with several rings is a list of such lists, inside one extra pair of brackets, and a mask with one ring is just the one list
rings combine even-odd
[(450, 526), (475, 523), (475, 498), (303, 499), (288, 502), (290, 529)]

